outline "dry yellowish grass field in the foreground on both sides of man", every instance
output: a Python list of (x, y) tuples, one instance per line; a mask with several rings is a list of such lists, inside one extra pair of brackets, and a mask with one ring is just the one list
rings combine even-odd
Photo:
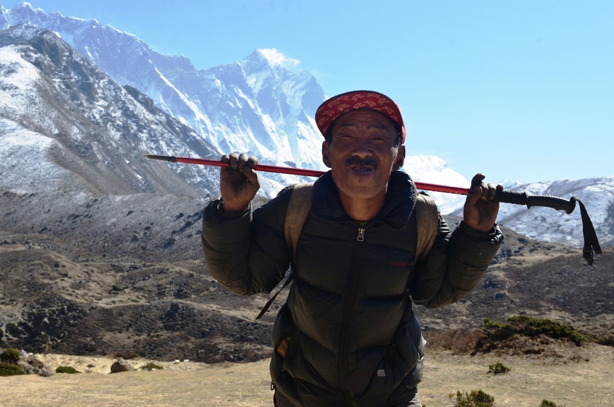
[[(450, 393), (483, 390), (495, 406), (614, 405), (614, 348), (588, 344), (556, 357), (455, 355), (429, 351), (420, 385), (425, 407), (451, 407)], [(38, 355), (55, 371), (73, 366), (91, 373), (0, 377), (3, 406), (272, 406), (268, 361), (252, 363), (155, 362), (158, 371), (109, 374), (114, 358)], [(135, 368), (150, 362), (128, 361)], [(488, 373), (501, 362), (506, 374)]]

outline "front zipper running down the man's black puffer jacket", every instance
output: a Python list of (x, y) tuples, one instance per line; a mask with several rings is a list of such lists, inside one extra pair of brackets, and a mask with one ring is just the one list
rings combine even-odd
[[(348, 364), (349, 364), (349, 322), (352, 318), (352, 312), (354, 310), (354, 301), (356, 301), (356, 287), (358, 286), (358, 269), (360, 261), (362, 260), (363, 249), (365, 245), (362, 242), (365, 241), (365, 228), (358, 228), (358, 235), (356, 236), (358, 243), (354, 255), (352, 255), (352, 264), (350, 268), (350, 280), (348, 289), (346, 290), (345, 301), (343, 303), (343, 318), (341, 319), (341, 337), (339, 348), (339, 374), (340, 382), (344, 389), (347, 389), (346, 380), (348, 377)], [(346, 397), (349, 398), (349, 393), (346, 390)], [(349, 400), (351, 401), (351, 400)]]

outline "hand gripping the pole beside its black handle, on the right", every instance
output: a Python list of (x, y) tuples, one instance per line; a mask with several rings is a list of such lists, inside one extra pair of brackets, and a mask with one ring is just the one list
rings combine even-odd
[(499, 202), (495, 202), (495, 192), (503, 189), (502, 185), (486, 184), (486, 176), (478, 173), (471, 180), (471, 188), (465, 200), (464, 222), (475, 231), (488, 233), (495, 224), (499, 213)]

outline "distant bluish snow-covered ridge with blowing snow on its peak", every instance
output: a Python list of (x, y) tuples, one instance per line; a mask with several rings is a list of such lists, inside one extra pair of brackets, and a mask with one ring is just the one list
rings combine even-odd
[[(96, 20), (46, 14), (28, 3), (9, 10), (0, 6), (0, 13), (0, 28), (25, 24), (57, 33), (116, 82), (140, 90), (162, 111), (193, 128), (219, 154), (251, 152), (261, 164), (327, 169), (321, 159), (322, 135), (313, 118), (326, 98), (324, 90), (308, 71), (285, 68), (276, 50), (255, 50), (228, 65), (195, 69), (185, 57), (155, 52), (132, 34)], [(179, 155), (168, 148), (150, 152)], [(445, 162), (432, 159), (408, 157), (405, 168), (414, 178), (432, 175), (430, 179), (440, 180)], [(451, 168), (444, 173), (451, 175), (448, 183), (460, 180), (460, 185), (468, 185)], [(261, 178), (266, 180), (262, 193), (268, 197), (286, 184), (309, 181), (271, 173)], [(443, 194), (434, 197), (443, 211), (462, 202)]]

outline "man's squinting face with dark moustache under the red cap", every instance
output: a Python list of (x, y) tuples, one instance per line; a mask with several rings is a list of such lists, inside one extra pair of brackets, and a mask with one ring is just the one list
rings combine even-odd
[(394, 122), (383, 113), (360, 109), (336, 119), (322, 160), (332, 169), (340, 194), (351, 199), (383, 199), (390, 174), (403, 165), (405, 146), (395, 147)]

